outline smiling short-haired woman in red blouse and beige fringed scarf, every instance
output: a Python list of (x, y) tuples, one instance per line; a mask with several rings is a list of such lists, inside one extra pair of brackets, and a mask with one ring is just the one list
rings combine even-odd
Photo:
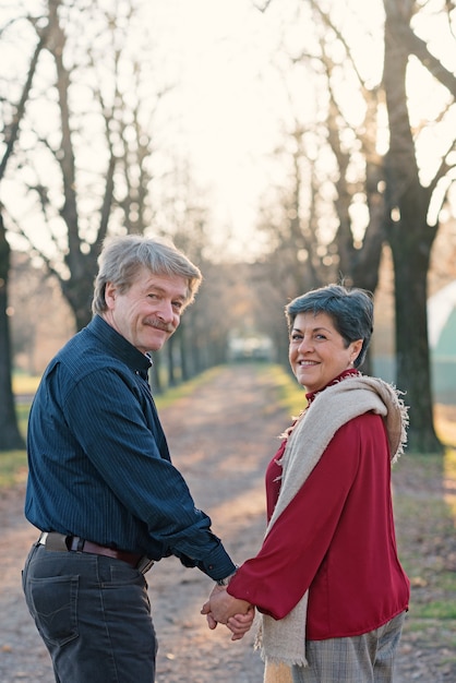
[(365, 291), (329, 285), (286, 314), (307, 407), (266, 472), (260, 552), (203, 612), (211, 627), (236, 630), (236, 615), (257, 608), (267, 681), (392, 682), (409, 601), (391, 491), (406, 409), (389, 384), (358, 370), (372, 334)]

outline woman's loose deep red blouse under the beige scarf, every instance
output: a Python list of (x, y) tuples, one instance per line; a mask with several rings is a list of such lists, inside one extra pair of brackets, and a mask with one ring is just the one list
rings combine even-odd
[[(312, 395), (308, 395), (312, 400)], [(277, 502), (285, 442), (266, 471), (267, 516)], [(341, 427), (228, 592), (274, 619), (309, 589), (307, 638), (360, 635), (408, 608), (396, 548), (391, 458), (380, 416)]]

